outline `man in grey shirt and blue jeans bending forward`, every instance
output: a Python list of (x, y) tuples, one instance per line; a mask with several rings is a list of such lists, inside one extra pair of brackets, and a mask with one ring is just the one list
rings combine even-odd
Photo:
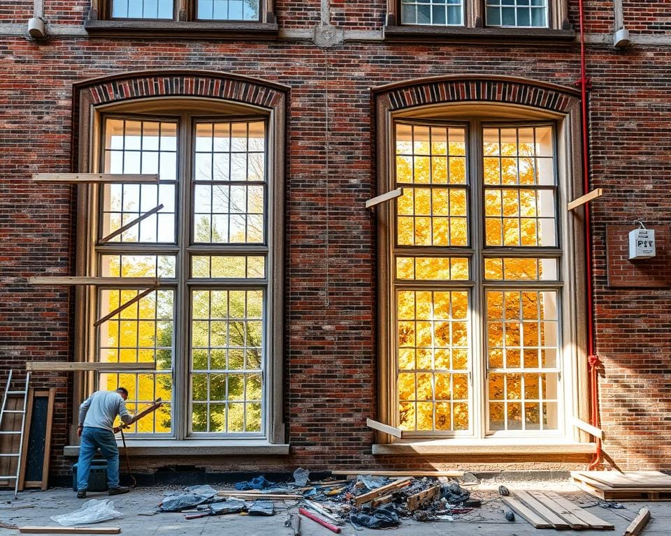
[(133, 415), (126, 409), (128, 391), (96, 391), (79, 406), (77, 435), (81, 438), (77, 463), (77, 498), (85, 499), (89, 487), (89, 470), (96, 449), (107, 459), (107, 482), (110, 495), (128, 493), (130, 488), (119, 485), (119, 447), (114, 434), (120, 426), (113, 426), (117, 415), (123, 424), (129, 424)]

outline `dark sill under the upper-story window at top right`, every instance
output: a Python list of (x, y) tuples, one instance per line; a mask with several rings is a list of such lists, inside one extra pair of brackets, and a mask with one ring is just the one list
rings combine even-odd
[(387, 26), (384, 27), (384, 39), (387, 41), (449, 41), (449, 40), (485, 40), (572, 42), (575, 31), (549, 28), (464, 28), (445, 26)]

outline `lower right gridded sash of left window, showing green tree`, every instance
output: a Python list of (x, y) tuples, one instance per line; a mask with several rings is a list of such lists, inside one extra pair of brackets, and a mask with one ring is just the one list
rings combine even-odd
[(192, 291), (192, 431), (261, 433), (264, 290)]

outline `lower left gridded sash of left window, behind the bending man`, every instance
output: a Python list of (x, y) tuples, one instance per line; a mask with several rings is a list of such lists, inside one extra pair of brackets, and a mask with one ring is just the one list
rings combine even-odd
[[(114, 311), (138, 295), (138, 290), (106, 289), (99, 295), (100, 314)], [(98, 329), (101, 363), (156, 363), (156, 371), (143, 373), (99, 373), (99, 388), (126, 387), (129, 410), (151, 403), (157, 397), (166, 401), (153, 419), (134, 424), (131, 433), (171, 433), (173, 369), (172, 290), (157, 290), (124, 308), (103, 322)]]

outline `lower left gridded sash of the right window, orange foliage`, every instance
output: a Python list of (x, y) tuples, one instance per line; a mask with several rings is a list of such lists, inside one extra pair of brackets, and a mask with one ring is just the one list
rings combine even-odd
[(396, 316), (400, 428), (467, 431), (468, 291), (399, 290)]

